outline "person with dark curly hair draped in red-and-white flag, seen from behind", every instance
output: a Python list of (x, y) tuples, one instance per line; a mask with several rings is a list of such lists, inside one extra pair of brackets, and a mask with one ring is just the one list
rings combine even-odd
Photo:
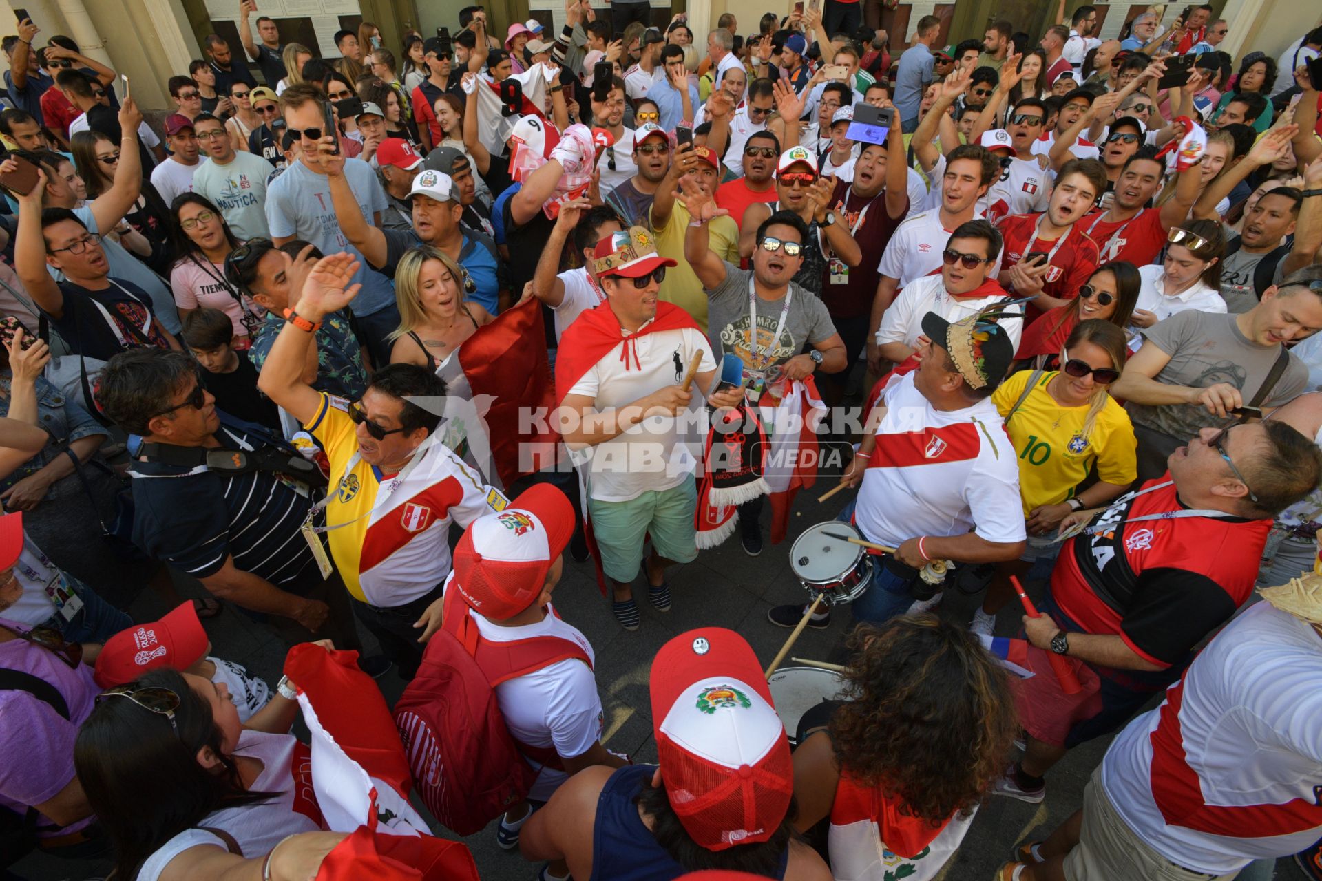
[[(1006, 672), (976, 635), (936, 616), (861, 626), (842, 674), (849, 700), (804, 715), (795, 827), (829, 820), (837, 878), (932, 878), (1005, 773), (1018, 732)], [(902, 874), (903, 866), (908, 872)]]

